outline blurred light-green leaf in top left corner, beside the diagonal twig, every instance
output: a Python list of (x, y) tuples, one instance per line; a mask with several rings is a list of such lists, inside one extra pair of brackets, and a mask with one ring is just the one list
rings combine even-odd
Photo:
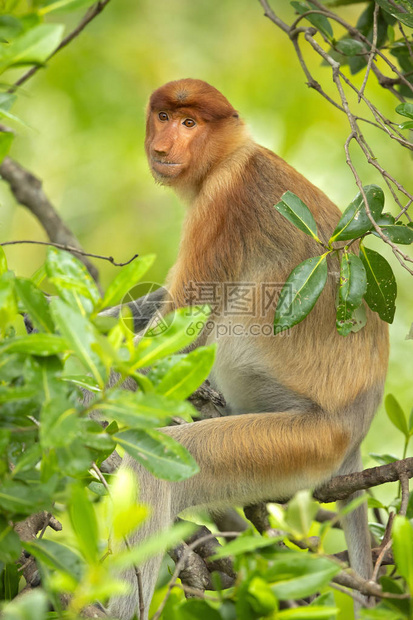
[(40, 24), (16, 37), (0, 51), (0, 70), (42, 64), (59, 45), (63, 30), (60, 24)]

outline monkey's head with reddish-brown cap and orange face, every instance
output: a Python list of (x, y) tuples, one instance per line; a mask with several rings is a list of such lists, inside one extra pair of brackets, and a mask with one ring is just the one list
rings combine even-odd
[[(194, 126), (185, 126), (188, 119)], [(145, 148), (152, 174), (186, 195), (197, 193), (211, 170), (245, 139), (236, 110), (202, 80), (169, 82), (149, 100)]]

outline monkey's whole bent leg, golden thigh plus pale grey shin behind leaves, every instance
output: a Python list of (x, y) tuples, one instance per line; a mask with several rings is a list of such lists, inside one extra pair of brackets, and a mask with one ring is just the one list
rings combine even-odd
[[(173, 426), (162, 432), (182, 443), (199, 464), (200, 472), (183, 482), (157, 480), (127, 457), (139, 479), (139, 501), (152, 506), (152, 517), (131, 537), (136, 545), (172, 523), (190, 506), (223, 507), (262, 500), (281, 500), (303, 488), (328, 480), (342, 464), (349, 433), (339, 420), (320, 410), (303, 413), (245, 414)], [(141, 567), (146, 620), (161, 557)], [(111, 601), (109, 612), (130, 620), (139, 608), (133, 570), (124, 575), (128, 595)]]

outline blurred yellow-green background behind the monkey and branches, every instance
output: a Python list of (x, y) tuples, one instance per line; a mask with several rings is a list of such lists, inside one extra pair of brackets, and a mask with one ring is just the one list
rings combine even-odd
[[(291, 22), (287, 2), (272, 4)], [(354, 22), (362, 8), (349, 7), (342, 14)], [(79, 19), (78, 13), (54, 17), (66, 23), (66, 32)], [(320, 66), (309, 48), (305, 55), (314, 77), (335, 95), (330, 70)], [(358, 84), (363, 74), (357, 76)], [(11, 156), (43, 179), (47, 195), (87, 251), (118, 261), (155, 252), (158, 259), (148, 279), (159, 283), (173, 264), (184, 208), (150, 176), (143, 150), (144, 116), (151, 91), (182, 77), (200, 78), (222, 90), (254, 138), (287, 159), (341, 209), (354, 197), (357, 189), (343, 148), (347, 120), (306, 86), (291, 43), (264, 17), (257, 0), (112, 0), (23, 87), (13, 110), (28, 127), (18, 128)], [(372, 76), (368, 88), (383, 112), (400, 122), (393, 96), (381, 92)], [(367, 115), (363, 104), (360, 114)], [(411, 191), (408, 152), (369, 128), (366, 136), (384, 167)], [(354, 156), (363, 183), (383, 186), (356, 151)], [(0, 184), (0, 192), (3, 240), (45, 240), (40, 225), (16, 206), (5, 184)], [(386, 210), (392, 210), (389, 199)], [(369, 245), (382, 251), (375, 240)], [(26, 276), (41, 265), (44, 253), (36, 246), (7, 248), (10, 267)], [(412, 341), (405, 336), (413, 318), (413, 280), (385, 254), (399, 281), (387, 392), (410, 410)], [(116, 268), (97, 264), (105, 286)], [(382, 408), (364, 444), (366, 464), (372, 464), (370, 451), (401, 456), (402, 444)]]

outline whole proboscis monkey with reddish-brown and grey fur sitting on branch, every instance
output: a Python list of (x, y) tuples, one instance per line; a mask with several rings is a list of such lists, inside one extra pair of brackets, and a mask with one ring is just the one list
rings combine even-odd
[[(266, 304), (268, 289), (279, 292), (298, 263), (319, 254), (319, 246), (274, 204), (287, 190), (297, 194), (311, 209), (323, 241), (340, 212), (285, 161), (256, 144), (218, 90), (193, 79), (156, 90), (147, 111), (145, 148), (155, 180), (188, 204), (167, 288), (177, 307), (188, 305), (188, 291), (191, 304), (211, 303), (203, 295), (214, 291), (211, 320), (200, 338), (218, 342), (211, 381), (231, 415), (163, 429), (198, 462), (200, 473), (189, 480), (157, 480), (126, 458), (139, 478), (140, 500), (153, 508), (133, 544), (190, 506), (283, 500), (336, 474), (357, 471), (388, 358), (387, 327), (367, 307), (362, 330), (346, 338), (336, 331), (339, 262), (333, 256), (312, 312), (289, 332), (273, 334), (276, 295)], [(242, 293), (243, 305), (235, 304), (231, 313), (234, 291)], [(344, 529), (351, 564), (368, 578), (365, 504), (345, 518)], [(153, 558), (142, 569), (145, 618), (159, 563)], [(126, 578), (134, 584), (132, 594), (110, 606), (122, 620), (138, 608), (134, 572)]]

